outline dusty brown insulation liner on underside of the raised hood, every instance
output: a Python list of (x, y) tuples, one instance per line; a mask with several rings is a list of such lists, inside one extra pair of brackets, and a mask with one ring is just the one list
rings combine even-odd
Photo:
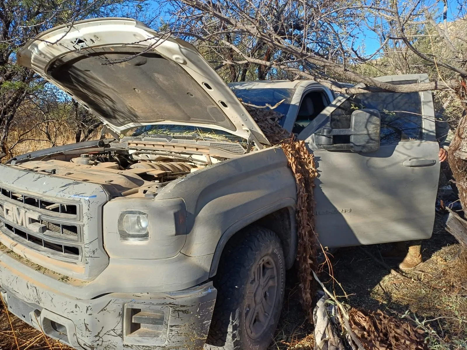
[(115, 126), (170, 120), (236, 130), (185, 70), (154, 52), (142, 53), (144, 49), (71, 52), (58, 58), (48, 74)]

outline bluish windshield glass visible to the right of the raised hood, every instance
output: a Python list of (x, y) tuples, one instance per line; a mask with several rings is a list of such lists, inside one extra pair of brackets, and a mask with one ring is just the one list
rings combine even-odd
[[(267, 88), (267, 89), (232, 89), (235, 96), (241, 98), (241, 100), (250, 105), (264, 106), (269, 104), (274, 106), (281, 102), (274, 110), (283, 115), (287, 115), (290, 108), (290, 102), (295, 89), (278, 89), (278, 88)], [(280, 120), (280, 124), (283, 125), (284, 118)]]

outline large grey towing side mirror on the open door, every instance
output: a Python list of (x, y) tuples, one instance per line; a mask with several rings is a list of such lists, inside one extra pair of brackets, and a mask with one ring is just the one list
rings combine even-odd
[[(371, 153), (379, 149), (380, 130), (380, 113), (375, 109), (359, 109), (352, 113), (349, 129), (324, 127), (314, 134), (314, 143), (329, 151)], [(336, 135), (350, 135), (350, 142), (334, 144), (333, 136)]]

